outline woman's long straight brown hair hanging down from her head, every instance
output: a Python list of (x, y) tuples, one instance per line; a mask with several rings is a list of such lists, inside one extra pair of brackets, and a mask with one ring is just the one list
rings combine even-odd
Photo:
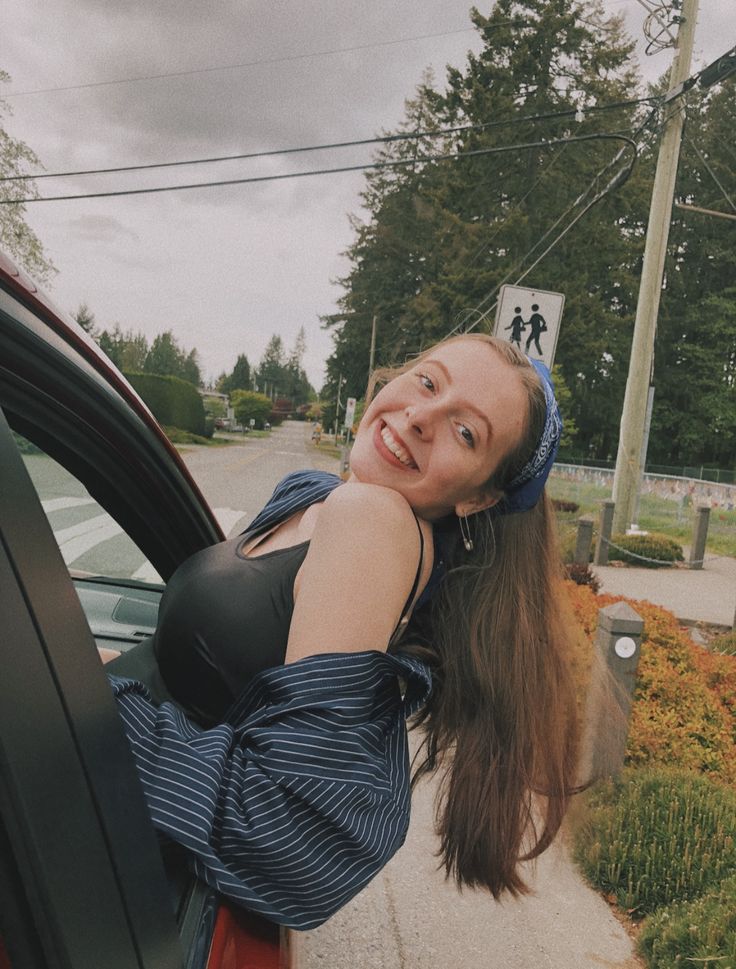
[[(487, 482), (502, 496), (541, 436), (544, 392), (510, 343), (483, 334), (453, 342), (469, 339), (518, 368), (527, 390), (521, 438)], [(369, 399), (376, 383), (425, 355), (378, 371)], [(447, 574), (417, 617), (416, 641), (399, 648), (433, 669), (431, 696), (415, 722), (425, 736), (414, 781), (444, 769), (436, 820), (445, 870), (458, 885), (485, 887), (498, 898), (528, 890), (520, 862), (541, 854), (562, 823), (576, 783), (579, 726), (546, 494), (530, 511), (491, 508), (468, 521), (473, 551), (457, 541), (446, 551)]]

